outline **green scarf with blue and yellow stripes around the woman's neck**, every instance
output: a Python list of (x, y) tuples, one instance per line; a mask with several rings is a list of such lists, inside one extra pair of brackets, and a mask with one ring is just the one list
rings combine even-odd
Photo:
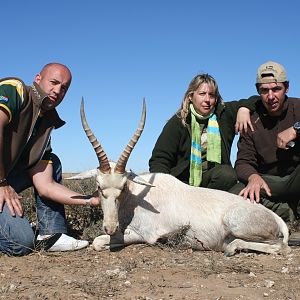
[(198, 114), (190, 104), (192, 118), (192, 145), (190, 157), (190, 178), (189, 184), (200, 186), (202, 181), (202, 148), (201, 148), (201, 129), (197, 119), (208, 119), (207, 124), (207, 160), (221, 163), (221, 135), (217, 116), (212, 112), (207, 117)]

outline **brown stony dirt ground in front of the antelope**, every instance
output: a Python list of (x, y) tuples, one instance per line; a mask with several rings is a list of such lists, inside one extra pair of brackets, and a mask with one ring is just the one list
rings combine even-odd
[(2, 255), (0, 299), (300, 299), (300, 247), (286, 257), (160, 245)]

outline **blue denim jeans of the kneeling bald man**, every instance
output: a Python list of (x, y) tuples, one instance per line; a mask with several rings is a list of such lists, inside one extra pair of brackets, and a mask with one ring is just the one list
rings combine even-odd
[[(51, 154), (53, 179), (62, 180), (62, 167), (59, 158)], [(32, 186), (27, 172), (11, 173), (7, 178), (17, 193)], [(35, 190), (36, 211), (39, 234), (67, 233), (64, 205), (41, 198)], [(0, 213), (0, 252), (8, 255), (25, 255), (34, 248), (34, 232), (26, 217), (12, 217), (4, 204)]]

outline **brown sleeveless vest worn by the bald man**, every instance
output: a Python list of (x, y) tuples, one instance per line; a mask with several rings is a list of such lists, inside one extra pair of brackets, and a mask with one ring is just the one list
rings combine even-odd
[[(1, 79), (1, 81), (6, 79), (8, 78)], [(42, 117), (36, 135), (30, 140), (30, 145), (26, 145), (32, 135), (42, 102), (47, 94), (36, 83), (30, 87), (24, 83), (23, 85), (24, 102), (21, 111), (18, 117), (13, 118), (4, 129), (4, 169), (6, 176), (12, 170), (24, 170), (34, 166), (45, 152), (52, 129), (65, 124), (55, 109), (47, 111)], [(25, 146), (26, 152), (23, 151)], [(19, 160), (21, 155), (22, 159)]]

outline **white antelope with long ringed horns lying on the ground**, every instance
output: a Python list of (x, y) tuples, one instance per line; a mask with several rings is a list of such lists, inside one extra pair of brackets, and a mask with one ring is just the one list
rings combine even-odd
[(118, 162), (109, 162), (90, 130), (81, 103), (81, 120), (99, 160), (97, 170), (69, 179), (96, 177), (106, 235), (96, 237), (95, 250), (133, 243), (154, 244), (159, 238), (187, 226), (186, 239), (193, 249), (288, 253), (289, 232), (285, 222), (260, 204), (208, 188), (192, 187), (169, 174), (135, 176), (125, 170), (128, 158), (142, 134), (146, 106), (135, 134)]

